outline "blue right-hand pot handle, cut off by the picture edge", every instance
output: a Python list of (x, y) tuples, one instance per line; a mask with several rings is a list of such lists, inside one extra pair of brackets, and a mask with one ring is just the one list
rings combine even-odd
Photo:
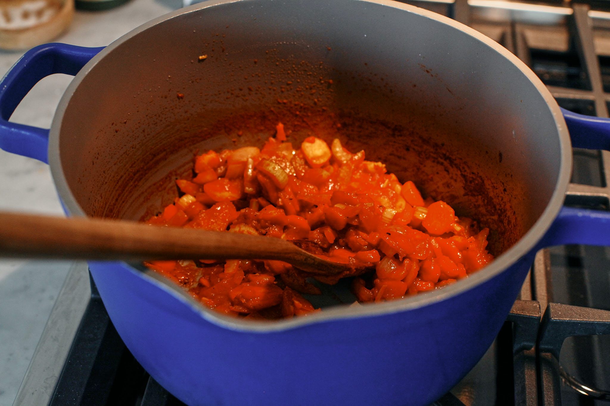
[[(584, 116), (563, 108), (561, 112), (573, 147), (610, 151), (610, 119)], [(542, 248), (564, 244), (610, 246), (610, 212), (562, 208), (539, 245)]]

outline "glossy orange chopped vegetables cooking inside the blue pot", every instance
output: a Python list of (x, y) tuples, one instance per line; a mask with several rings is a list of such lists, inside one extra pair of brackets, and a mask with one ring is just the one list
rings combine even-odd
[(442, 288), (493, 260), (489, 229), (456, 217), (444, 201), (424, 199), (412, 181), (401, 183), (364, 151), (351, 153), (339, 139), (286, 140), (278, 124), (262, 149), (196, 156), (193, 177), (176, 180), (180, 196), (148, 223), (292, 240), (353, 271), (308, 275), (256, 259), (146, 265), (218, 312), (273, 319), (317, 311), (301, 295), (320, 294), (307, 278), (334, 284), (353, 277), (359, 301), (379, 302)]

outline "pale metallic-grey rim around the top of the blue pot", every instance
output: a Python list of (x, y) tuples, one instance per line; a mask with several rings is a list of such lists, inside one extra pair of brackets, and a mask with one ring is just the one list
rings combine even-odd
[[(86, 217), (85, 212), (82, 210), (81, 206), (78, 205), (74, 195), (70, 191), (68, 184), (65, 179), (65, 175), (63, 173), (63, 168), (60, 160), (60, 151), (59, 151), (59, 128), (62, 126), (63, 114), (70, 103), (70, 99), (73, 96), (76, 88), (80, 85), (84, 77), (88, 74), (88, 72), (93, 69), (93, 67), (100, 61), (102, 58), (106, 57), (113, 49), (120, 46), (124, 41), (129, 40), (129, 38), (134, 37), (140, 32), (143, 32), (146, 29), (149, 29), (152, 26), (156, 26), (157, 24), (163, 23), (171, 18), (176, 18), (182, 14), (195, 12), (200, 9), (207, 9), (208, 7), (214, 7), (221, 4), (229, 4), (239, 1), (256, 1), (256, 0), (208, 0), (198, 4), (191, 5), (189, 7), (185, 7), (184, 9), (179, 9), (174, 12), (167, 13), (166, 15), (160, 16), (156, 19), (152, 19), (148, 23), (142, 24), (141, 26), (131, 30), (126, 33), (122, 37), (118, 38), (118, 40), (113, 41), (113, 43), (109, 44), (109, 46), (102, 49), (99, 54), (93, 57), (84, 68), (74, 77), (65, 93), (62, 96), (62, 99), (59, 102), (56, 113), (54, 115), (51, 130), (49, 131), (49, 166), (51, 167), (51, 175), (56, 184), (57, 191), (62, 199), (62, 203), (64, 209), (67, 214), (74, 216), (82, 216)], [(539, 219), (536, 220), (533, 226), (525, 233), (525, 235), (513, 245), (511, 248), (506, 250), (504, 253), (500, 254), (491, 264), (484, 267), (483, 270), (480, 270), (472, 275), (468, 276), (468, 278), (461, 279), (460, 281), (448, 285), (447, 287), (443, 287), (443, 289), (434, 290), (432, 292), (423, 293), (420, 295), (411, 296), (403, 299), (396, 299), (393, 301), (387, 301), (384, 303), (364, 303), (361, 306), (334, 306), (328, 309), (325, 309), (323, 312), (317, 312), (312, 315), (308, 315), (307, 317), (296, 317), (292, 319), (282, 319), (278, 321), (273, 321), (269, 323), (253, 323), (251, 321), (240, 320), (236, 318), (227, 317), (221, 315), (213, 311), (212, 309), (207, 309), (202, 306), (198, 301), (195, 301), (190, 295), (187, 295), (185, 292), (180, 290), (178, 287), (174, 286), (172, 282), (165, 280), (160, 276), (151, 276), (151, 272), (143, 272), (141, 270), (137, 270), (137, 268), (126, 264), (125, 262), (121, 262), (120, 264), (124, 265), (126, 268), (139, 275), (142, 278), (147, 279), (152, 284), (157, 285), (160, 289), (165, 290), (166, 292), (170, 292), (174, 297), (187, 304), (190, 309), (200, 315), (204, 320), (210, 321), (213, 324), (218, 326), (223, 326), (228, 329), (234, 331), (242, 331), (242, 332), (279, 332), (286, 331), (290, 329), (294, 329), (296, 327), (304, 327), (308, 324), (317, 324), (317, 323), (325, 323), (332, 320), (344, 320), (350, 318), (361, 318), (361, 317), (376, 317), (381, 315), (386, 315), (390, 313), (404, 312), (406, 310), (418, 309), (420, 307), (429, 306), (435, 303), (439, 303), (440, 301), (444, 301), (445, 299), (452, 298), (453, 296), (461, 295), (461, 293), (467, 292), (473, 287), (483, 284), (486, 281), (494, 278), (500, 273), (507, 271), (511, 265), (515, 264), (515, 262), (519, 261), (535, 247), (536, 243), (539, 242), (540, 239), (547, 232), (547, 229), (550, 227), (551, 223), (558, 215), (559, 210), (563, 206), (565, 191), (567, 191), (567, 187), (570, 181), (570, 173), (572, 173), (572, 144), (570, 142), (569, 133), (567, 130), (567, 126), (565, 125), (564, 117), (559, 109), (557, 102), (554, 100), (553, 96), (551, 96), (550, 91), (548, 91), (547, 87), (540, 81), (540, 79), (534, 74), (528, 66), (525, 65), (519, 58), (509, 52), (500, 44), (486, 37), (482, 33), (477, 32), (476, 30), (465, 26), (464, 24), (458, 23), (451, 18), (445, 17), (443, 15), (439, 15), (434, 12), (430, 12), (425, 9), (420, 9), (419, 7), (415, 7), (413, 5), (400, 3), (392, 0), (353, 0), (353, 1), (361, 1), (367, 2), (371, 4), (383, 5), (386, 7), (392, 7), (393, 9), (398, 9), (401, 11), (414, 13), (416, 15), (423, 16), (428, 19), (432, 19), (438, 21), (443, 24), (447, 24), (448, 26), (453, 27), (454, 29), (460, 30), (464, 33), (467, 33), (471, 37), (474, 37), (476, 40), (479, 40), (491, 47), (494, 51), (500, 53), (504, 58), (506, 58), (509, 63), (517, 66), (519, 70), (529, 79), (529, 81), (536, 87), (539, 91), (540, 95), (544, 98), (545, 102), (550, 109), (551, 114), (553, 114), (553, 119), (556, 124), (559, 136), (559, 145), (561, 150), (561, 163), (559, 167), (559, 177), (556, 183), (555, 189), (553, 191), (553, 195), (550, 198), (550, 201), (545, 208), (542, 215), (540, 215)]]

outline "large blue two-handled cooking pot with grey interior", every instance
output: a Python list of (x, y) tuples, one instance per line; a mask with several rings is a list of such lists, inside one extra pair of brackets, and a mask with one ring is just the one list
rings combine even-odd
[[(57, 72), (76, 77), (51, 130), (8, 122)], [(204, 2), (103, 49), (32, 49), (0, 108), (0, 146), (48, 161), (69, 215), (143, 219), (197, 150), (260, 145), (282, 121), (295, 145), (339, 136), (492, 230), (495, 261), (454, 285), (263, 323), (203, 309), (137, 265), (90, 262), (127, 348), (188, 405), (429, 404), (492, 343), (536, 250), (610, 245), (607, 212), (562, 207), (568, 128), (575, 146), (608, 149), (608, 123), (563, 111), (566, 127), (506, 49), (398, 2)]]

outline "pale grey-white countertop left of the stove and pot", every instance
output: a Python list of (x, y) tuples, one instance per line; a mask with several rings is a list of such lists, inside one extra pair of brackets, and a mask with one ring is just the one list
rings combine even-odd
[[(104, 12), (77, 11), (57, 42), (106, 46), (152, 18), (182, 7), (181, 0), (130, 0)], [(0, 51), (2, 75), (23, 55)], [(68, 75), (41, 80), (10, 121), (49, 128)], [(0, 150), (0, 210), (62, 215), (46, 164)], [(0, 406), (13, 404), (38, 339), (71, 262), (0, 260)]]

